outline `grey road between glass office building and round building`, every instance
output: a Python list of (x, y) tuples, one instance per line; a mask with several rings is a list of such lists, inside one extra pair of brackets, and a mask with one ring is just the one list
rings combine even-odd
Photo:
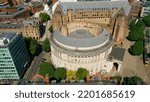
[(42, 56), (43, 56), (44, 52), (40, 53), (39, 56), (37, 56), (36, 58), (34, 58), (34, 60), (32, 61), (32, 64), (30, 66), (30, 68), (27, 70), (26, 74), (24, 75), (24, 80), (27, 81), (31, 81), (32, 77), (37, 73), (38, 68), (39, 68), (39, 64), (42, 60)]

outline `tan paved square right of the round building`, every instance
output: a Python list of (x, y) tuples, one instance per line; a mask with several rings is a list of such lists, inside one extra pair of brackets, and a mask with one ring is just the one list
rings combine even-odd
[(128, 53), (128, 48), (134, 44), (127, 39), (123, 42), (123, 47), (126, 49), (123, 64), (121, 66), (119, 75), (126, 76), (139, 76), (146, 83), (150, 84), (150, 64), (145, 66), (143, 64), (142, 55), (132, 56)]

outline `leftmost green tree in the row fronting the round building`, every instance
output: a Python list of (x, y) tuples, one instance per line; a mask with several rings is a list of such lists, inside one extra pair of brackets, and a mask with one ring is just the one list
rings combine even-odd
[(49, 78), (53, 78), (54, 76), (54, 66), (50, 63), (43, 62), (40, 64), (40, 69), (38, 71), (42, 76), (48, 75)]

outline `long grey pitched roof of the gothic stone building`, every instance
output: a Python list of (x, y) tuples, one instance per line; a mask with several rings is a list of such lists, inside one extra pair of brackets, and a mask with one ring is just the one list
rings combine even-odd
[(130, 13), (131, 5), (128, 1), (86, 1), (86, 2), (60, 2), (59, 7), (64, 14), (68, 9), (85, 10), (85, 9), (121, 9), (123, 8), (126, 16)]

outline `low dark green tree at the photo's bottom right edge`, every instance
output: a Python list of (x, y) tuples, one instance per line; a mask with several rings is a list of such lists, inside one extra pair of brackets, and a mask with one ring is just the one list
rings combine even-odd
[(145, 84), (145, 82), (138, 76), (125, 77), (123, 78), (123, 81), (125, 85)]

